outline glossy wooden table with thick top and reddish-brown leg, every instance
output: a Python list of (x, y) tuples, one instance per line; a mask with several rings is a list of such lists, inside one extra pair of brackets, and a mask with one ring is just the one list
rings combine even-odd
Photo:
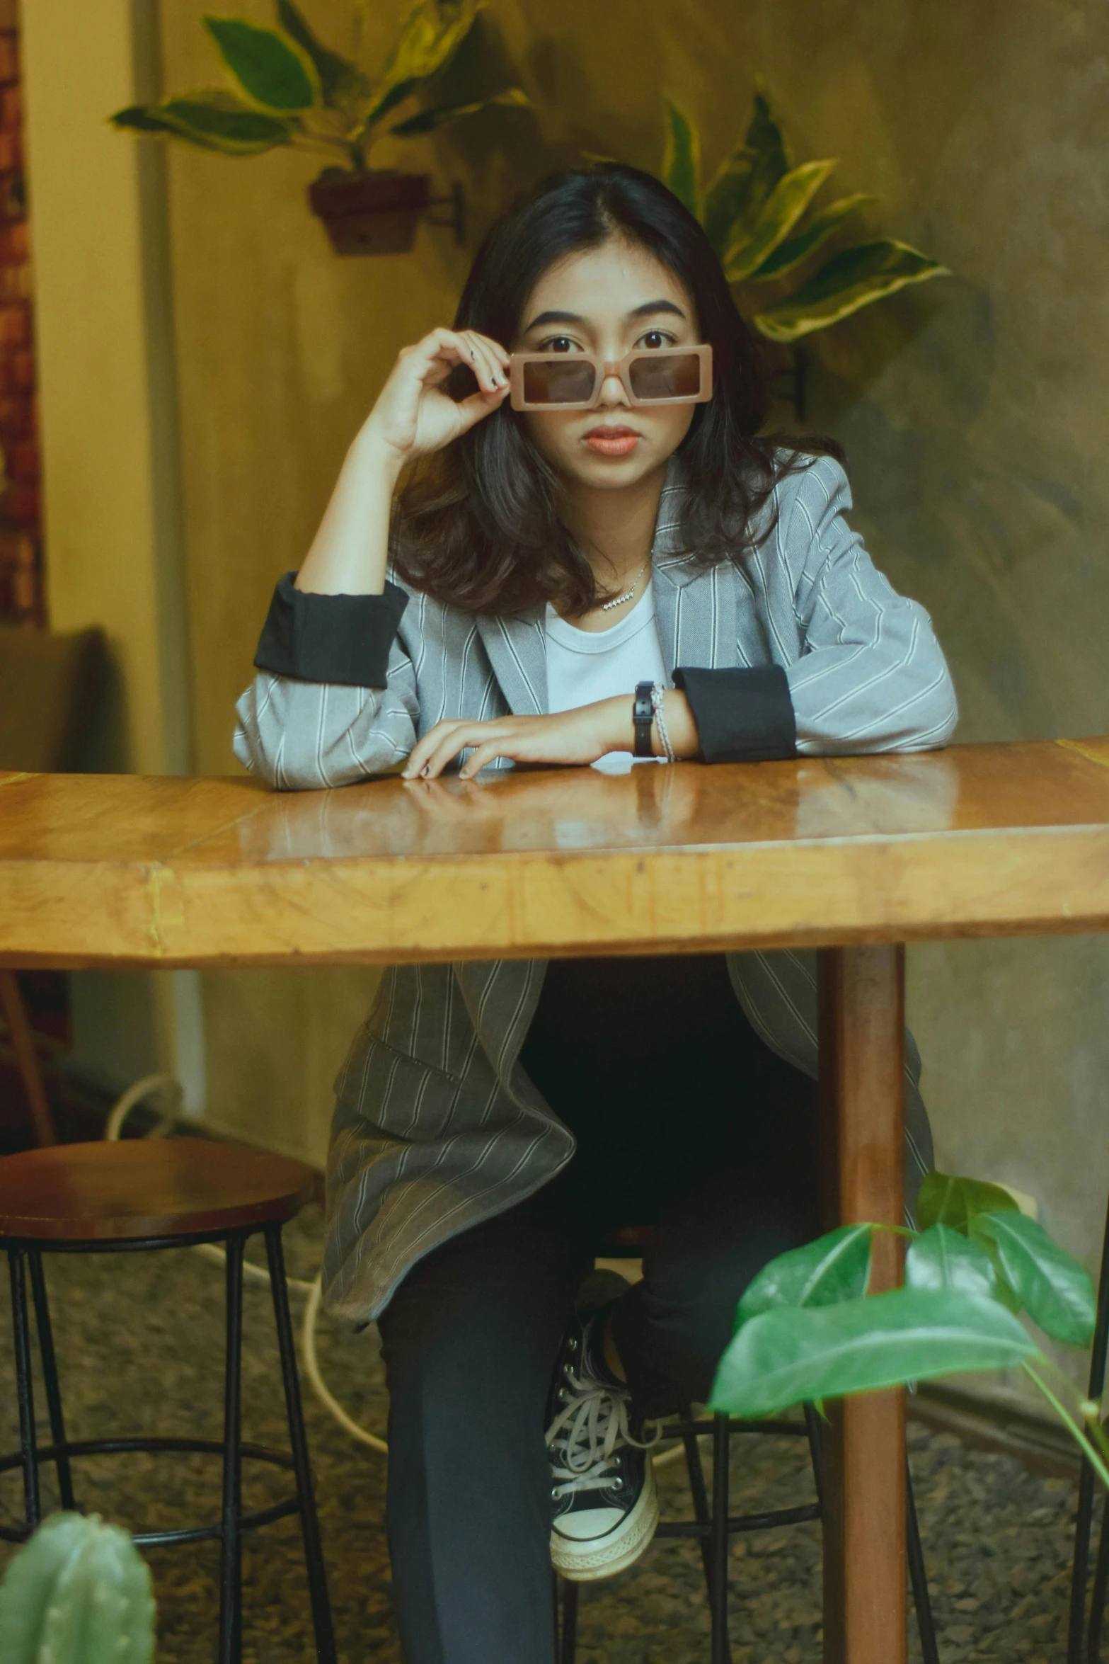
[[(0, 775), (0, 965), (825, 948), (843, 1220), (901, 1220), (901, 943), (1104, 929), (1109, 739), (288, 795)], [(835, 1426), (825, 1659), (903, 1664), (901, 1398)]]

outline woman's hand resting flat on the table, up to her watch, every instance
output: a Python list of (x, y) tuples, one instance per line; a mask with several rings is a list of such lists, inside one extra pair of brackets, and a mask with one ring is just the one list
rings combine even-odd
[(550, 717), (494, 717), (492, 722), (436, 722), (412, 747), (402, 777), (434, 780), (467, 747), (459, 777), (472, 779), (494, 757), (512, 762), (597, 762), (610, 750), (630, 750), (632, 701), (600, 699)]

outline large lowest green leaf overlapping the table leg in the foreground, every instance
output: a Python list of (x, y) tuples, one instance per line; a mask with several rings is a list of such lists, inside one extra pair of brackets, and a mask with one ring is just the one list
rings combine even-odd
[(836, 1306), (776, 1308), (735, 1333), (710, 1408), (768, 1416), (816, 1398), (1004, 1369), (1034, 1353), (996, 1300), (951, 1290), (896, 1288)]

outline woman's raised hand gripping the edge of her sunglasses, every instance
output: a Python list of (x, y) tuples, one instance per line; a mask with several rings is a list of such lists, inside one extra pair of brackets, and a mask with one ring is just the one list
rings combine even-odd
[[(459, 403), (444, 393), (456, 364), (467, 364), (477, 379), (477, 391)], [(432, 329), (401, 349), (359, 438), (404, 466), (451, 444), (495, 411), (507, 391), (509, 354), (497, 341), (476, 329)]]

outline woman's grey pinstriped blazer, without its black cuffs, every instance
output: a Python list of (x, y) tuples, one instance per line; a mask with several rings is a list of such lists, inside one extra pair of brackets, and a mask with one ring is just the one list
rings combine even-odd
[[(843, 519), (843, 469), (820, 458), (780, 481), (778, 522), (755, 554), (698, 569), (677, 546), (672, 464), (652, 549), (655, 614), (675, 666), (785, 669), (800, 752), (923, 750), (956, 722), (928, 614), (898, 596)], [(259, 672), (238, 704), (236, 755), (274, 787), (343, 785), (391, 767), (442, 717), (545, 711), (542, 611), (457, 612), (411, 594), (384, 689)], [(816, 1075), (811, 955), (732, 953), (737, 1000), (763, 1040)], [(336, 1082), (324, 1288), (366, 1323), (409, 1266), (545, 1185), (574, 1138), (519, 1065), (545, 962), (392, 967)], [(906, 1185), (931, 1166), (906, 1053)]]

